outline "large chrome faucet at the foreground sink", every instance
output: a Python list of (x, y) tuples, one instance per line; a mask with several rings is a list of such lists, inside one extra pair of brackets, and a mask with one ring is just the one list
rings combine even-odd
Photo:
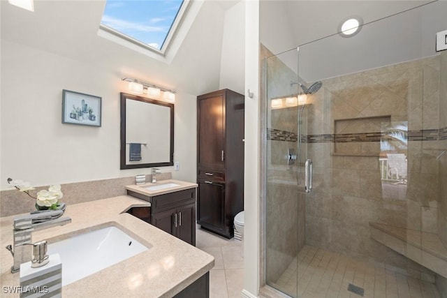
[(6, 249), (14, 257), (14, 265), (11, 267), (12, 273), (20, 271), (20, 264), (31, 261), (31, 248), (28, 246), (32, 245), (32, 232), (71, 223), (71, 218), (61, 218), (62, 214), (64, 214), (62, 210), (51, 210), (37, 214), (25, 214), (14, 218), (14, 243), (13, 246), (6, 246)]

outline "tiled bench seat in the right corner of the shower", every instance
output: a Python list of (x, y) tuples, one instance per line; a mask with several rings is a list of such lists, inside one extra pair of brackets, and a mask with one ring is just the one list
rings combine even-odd
[(447, 248), (437, 234), (369, 223), (371, 238), (447, 278)]

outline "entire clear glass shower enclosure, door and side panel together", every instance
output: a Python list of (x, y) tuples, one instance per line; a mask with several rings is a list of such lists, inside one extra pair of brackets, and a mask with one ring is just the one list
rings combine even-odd
[[(447, 278), (447, 52), (423, 38), (429, 8), (446, 4), (265, 59), (271, 287), (291, 297), (439, 295), (434, 281)], [(395, 40), (406, 47), (394, 50)]]

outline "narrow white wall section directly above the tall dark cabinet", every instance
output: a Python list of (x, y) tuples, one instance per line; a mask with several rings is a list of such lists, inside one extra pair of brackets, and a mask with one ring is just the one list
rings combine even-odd
[(219, 89), (244, 94), (244, 2), (239, 1), (225, 13), (223, 21), (221, 75)]

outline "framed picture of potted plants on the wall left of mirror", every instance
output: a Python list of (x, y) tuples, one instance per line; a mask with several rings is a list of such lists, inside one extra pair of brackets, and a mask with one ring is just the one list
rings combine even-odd
[(99, 96), (62, 90), (62, 124), (101, 127)]

